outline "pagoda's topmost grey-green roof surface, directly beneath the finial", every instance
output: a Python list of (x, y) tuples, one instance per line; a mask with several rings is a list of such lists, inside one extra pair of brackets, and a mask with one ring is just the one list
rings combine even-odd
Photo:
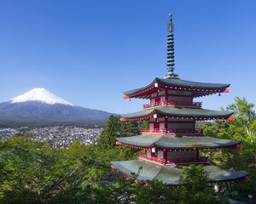
[[(197, 91), (198, 88), (210, 89), (212, 92), (215, 92), (215, 93), (224, 92), (226, 88), (230, 87), (230, 84), (227, 84), (227, 83), (192, 82), (192, 81), (182, 80), (179, 78), (162, 79), (162, 78), (155, 77), (154, 81), (148, 84), (147, 86), (143, 88), (132, 89), (130, 91), (125, 91), (123, 94), (128, 98), (136, 97), (136, 95), (142, 91), (145, 91), (145, 94), (150, 94), (149, 89), (151, 90), (154, 89), (155, 82), (158, 82), (164, 86), (169, 86), (169, 87), (172, 86), (173, 88), (190, 88), (191, 91), (193, 91), (194, 88), (195, 88), (195, 91)], [(212, 94), (212, 93), (209, 93), (209, 94)], [(198, 96), (201, 96), (201, 95), (202, 94), (199, 94)], [(207, 95), (207, 94), (204, 94), (204, 95)]]

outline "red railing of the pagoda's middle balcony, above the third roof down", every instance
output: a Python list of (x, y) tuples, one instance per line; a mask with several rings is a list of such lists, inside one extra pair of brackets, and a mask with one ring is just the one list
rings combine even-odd
[(167, 129), (167, 128), (142, 128), (142, 133), (166, 133), (166, 134), (175, 134), (175, 133), (192, 133), (192, 134), (201, 134), (203, 133), (202, 129)]

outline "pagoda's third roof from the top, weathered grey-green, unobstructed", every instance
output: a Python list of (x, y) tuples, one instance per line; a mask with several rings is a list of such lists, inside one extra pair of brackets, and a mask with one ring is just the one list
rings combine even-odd
[(217, 139), (199, 135), (140, 134), (132, 137), (117, 138), (117, 140), (121, 144), (140, 148), (157, 147), (169, 150), (215, 149), (233, 147), (240, 144), (240, 142), (230, 139)]

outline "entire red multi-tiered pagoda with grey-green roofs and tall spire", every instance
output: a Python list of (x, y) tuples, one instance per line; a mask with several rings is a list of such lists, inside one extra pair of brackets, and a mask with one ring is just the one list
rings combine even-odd
[(229, 93), (230, 84), (190, 82), (174, 73), (172, 14), (168, 26), (167, 71), (166, 77), (156, 77), (148, 86), (124, 93), (124, 99), (150, 99), (150, 104), (143, 105), (143, 111), (122, 115), (120, 120), (144, 120), (148, 128), (137, 136), (117, 138), (116, 144), (143, 149), (143, 153), (139, 153), (137, 160), (113, 161), (112, 167), (127, 176), (141, 169), (137, 180), (157, 179), (171, 186), (180, 184), (182, 170), (177, 164), (203, 164), (209, 182), (215, 187), (247, 179), (245, 172), (212, 166), (207, 157), (200, 156), (201, 150), (241, 148), (238, 141), (206, 137), (195, 127), (198, 121), (231, 119), (233, 112), (206, 110), (201, 102), (194, 102), (198, 97)]

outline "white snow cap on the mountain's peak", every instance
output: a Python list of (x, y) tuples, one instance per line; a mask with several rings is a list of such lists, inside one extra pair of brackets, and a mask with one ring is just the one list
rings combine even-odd
[(62, 104), (62, 105), (73, 105), (65, 99), (56, 96), (55, 94), (50, 93), (45, 88), (33, 88), (29, 92), (22, 94), (14, 99), (11, 99), (11, 103), (20, 103), (26, 101), (39, 101), (46, 104)]

